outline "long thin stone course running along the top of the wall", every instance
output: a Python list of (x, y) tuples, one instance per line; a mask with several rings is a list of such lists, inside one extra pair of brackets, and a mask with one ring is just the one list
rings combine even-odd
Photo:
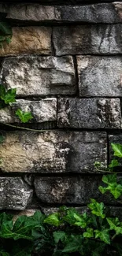
[(68, 21), (91, 23), (122, 22), (122, 3), (89, 6), (40, 6), (39, 4), (0, 5), (6, 18), (23, 21)]

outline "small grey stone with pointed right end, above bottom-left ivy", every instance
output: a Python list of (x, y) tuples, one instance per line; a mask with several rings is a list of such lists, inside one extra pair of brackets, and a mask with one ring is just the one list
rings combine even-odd
[(0, 177), (0, 210), (24, 210), (32, 193), (20, 177)]

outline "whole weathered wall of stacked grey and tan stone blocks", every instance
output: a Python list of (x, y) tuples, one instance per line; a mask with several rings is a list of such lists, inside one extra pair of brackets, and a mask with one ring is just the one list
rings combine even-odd
[[(0, 210), (84, 210), (92, 197), (120, 210), (94, 169), (122, 143), (122, 2), (103, 2), (0, 4), (13, 27), (1, 82), (17, 87), (17, 102), (0, 110)], [(18, 108), (34, 118), (18, 123)]]

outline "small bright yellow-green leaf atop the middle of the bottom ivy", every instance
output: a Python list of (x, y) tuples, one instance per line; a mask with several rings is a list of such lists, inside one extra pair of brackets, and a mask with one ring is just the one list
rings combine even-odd
[(60, 214), (59, 213), (52, 213), (44, 220), (44, 223), (54, 225), (58, 227), (61, 224)]

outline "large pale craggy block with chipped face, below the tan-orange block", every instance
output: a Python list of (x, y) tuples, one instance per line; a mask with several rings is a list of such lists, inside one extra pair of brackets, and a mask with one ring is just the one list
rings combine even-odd
[(17, 95), (73, 95), (76, 79), (70, 56), (6, 58), (2, 64), (6, 87)]

